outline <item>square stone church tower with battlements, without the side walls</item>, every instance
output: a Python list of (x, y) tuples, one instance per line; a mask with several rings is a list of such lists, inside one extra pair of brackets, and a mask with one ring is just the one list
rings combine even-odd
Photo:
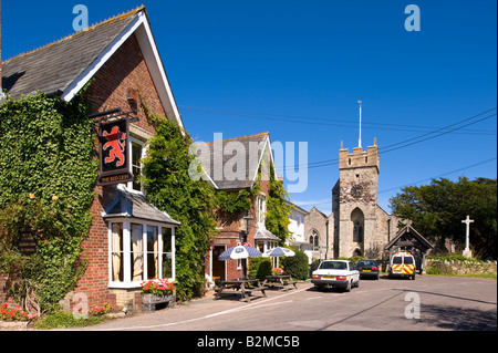
[(341, 145), (339, 181), (332, 190), (334, 256), (374, 256), (377, 239), (380, 156), (376, 141), (366, 150), (353, 153)]

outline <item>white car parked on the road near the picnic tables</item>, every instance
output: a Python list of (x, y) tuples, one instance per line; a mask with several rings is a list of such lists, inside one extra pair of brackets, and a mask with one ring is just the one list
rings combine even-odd
[(360, 271), (347, 260), (328, 260), (320, 263), (312, 273), (311, 283), (318, 290), (324, 288), (343, 288), (346, 292), (360, 287)]

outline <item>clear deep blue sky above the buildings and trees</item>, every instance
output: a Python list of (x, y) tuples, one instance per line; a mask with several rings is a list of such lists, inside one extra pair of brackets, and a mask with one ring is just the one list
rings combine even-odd
[[(90, 23), (141, 4), (3, 0), (2, 60), (72, 33), (79, 3)], [(144, 3), (190, 135), (307, 142), (318, 167), (308, 169), (307, 190), (291, 194), (305, 209), (331, 211), (341, 141), (357, 146), (359, 100), (363, 147), (376, 137), (381, 149), (378, 204), (387, 211), (405, 185), (496, 178), (495, 0)], [(411, 3), (419, 32), (405, 30)], [(458, 129), (434, 133), (449, 125)]]

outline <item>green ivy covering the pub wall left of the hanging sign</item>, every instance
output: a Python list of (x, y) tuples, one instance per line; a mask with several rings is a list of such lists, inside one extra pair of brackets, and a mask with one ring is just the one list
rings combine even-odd
[[(98, 173), (85, 104), (37, 94), (0, 104), (0, 273), (11, 294), (56, 309), (84, 267), (81, 243), (92, 221)], [(24, 232), (38, 251), (19, 252)], [(34, 267), (34, 268), (33, 268)]]

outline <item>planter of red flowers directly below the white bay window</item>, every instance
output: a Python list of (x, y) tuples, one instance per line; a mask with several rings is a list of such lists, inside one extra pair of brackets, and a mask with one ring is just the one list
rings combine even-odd
[(142, 311), (154, 312), (158, 304), (167, 304), (169, 309), (175, 308), (175, 289), (169, 279), (142, 282)]

